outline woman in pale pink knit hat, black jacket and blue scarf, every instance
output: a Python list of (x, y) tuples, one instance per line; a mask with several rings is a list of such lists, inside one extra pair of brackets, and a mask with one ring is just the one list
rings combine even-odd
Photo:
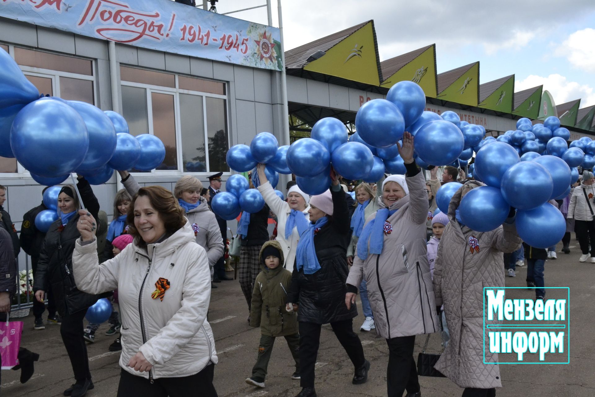
[[(300, 334), (300, 386), (296, 397), (315, 397), (314, 364), (320, 345), (322, 324), (330, 323), (333, 332), (349, 355), (355, 375), (352, 383), (368, 379), (369, 362), (364, 348), (353, 332), (355, 305), (345, 306), (347, 246), (351, 237), (349, 208), (339, 179), (331, 169), (330, 190), (310, 199), (311, 226), (297, 244), (292, 283), (287, 294), (287, 311), (297, 310)], [(297, 309), (299, 305), (299, 310)]]

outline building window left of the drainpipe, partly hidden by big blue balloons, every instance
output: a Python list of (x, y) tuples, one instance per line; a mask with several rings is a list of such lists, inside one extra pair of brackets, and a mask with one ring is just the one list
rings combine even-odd
[[(47, 96), (58, 96), (95, 105), (95, 66), (93, 61), (67, 55), (0, 44), (20, 66), (27, 79)], [(14, 158), (0, 157), (0, 173), (26, 170)]]

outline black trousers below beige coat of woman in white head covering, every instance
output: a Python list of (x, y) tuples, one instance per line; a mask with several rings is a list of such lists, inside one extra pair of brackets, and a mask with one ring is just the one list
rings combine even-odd
[(386, 340), (389, 345), (389, 365), (386, 368), (386, 389), (389, 397), (402, 397), (403, 392), (419, 392), (417, 365), (413, 358), (415, 335)]

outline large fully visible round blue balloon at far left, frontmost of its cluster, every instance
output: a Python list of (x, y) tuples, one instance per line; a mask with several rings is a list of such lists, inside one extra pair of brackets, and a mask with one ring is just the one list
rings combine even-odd
[(17, 161), (30, 172), (58, 177), (76, 170), (89, 149), (84, 120), (55, 99), (38, 100), (18, 112), (10, 131)]

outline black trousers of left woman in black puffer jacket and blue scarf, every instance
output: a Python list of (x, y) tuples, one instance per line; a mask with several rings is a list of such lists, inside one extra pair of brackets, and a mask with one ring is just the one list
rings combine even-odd
[(83, 337), (83, 319), (87, 310), (80, 310), (73, 314), (66, 314), (62, 317), (60, 335), (62, 342), (68, 352), (70, 364), (73, 366), (74, 379), (91, 379), (89, 371), (89, 357), (87, 356), (87, 344)]

